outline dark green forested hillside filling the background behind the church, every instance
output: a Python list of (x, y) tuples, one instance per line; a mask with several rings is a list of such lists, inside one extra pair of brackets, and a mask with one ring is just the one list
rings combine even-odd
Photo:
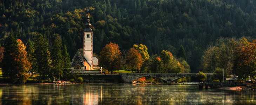
[(255, 37), (254, 0), (1, 0), (0, 43), (10, 34), (23, 43), (42, 34), (51, 49), (59, 34), (73, 57), (83, 46), (87, 8), (94, 53), (109, 42), (123, 54), (145, 44), (150, 56), (162, 50), (177, 55), (182, 45), (191, 72), (202, 69), (207, 45), (219, 37)]

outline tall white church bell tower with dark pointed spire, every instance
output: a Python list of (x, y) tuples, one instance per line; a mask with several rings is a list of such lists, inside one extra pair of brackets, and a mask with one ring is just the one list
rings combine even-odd
[(89, 8), (87, 8), (87, 19), (85, 23), (85, 30), (83, 30), (83, 56), (93, 69), (93, 30), (90, 28)]

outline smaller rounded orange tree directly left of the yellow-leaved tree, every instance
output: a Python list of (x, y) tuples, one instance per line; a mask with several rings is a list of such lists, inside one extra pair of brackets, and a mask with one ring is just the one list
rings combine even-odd
[(135, 48), (130, 48), (130, 50), (126, 54), (126, 65), (133, 71), (137, 70), (140, 71), (141, 66), (143, 63), (142, 56), (138, 50)]

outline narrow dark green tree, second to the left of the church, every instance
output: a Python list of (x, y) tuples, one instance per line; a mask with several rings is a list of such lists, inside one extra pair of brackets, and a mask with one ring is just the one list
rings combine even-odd
[(59, 34), (54, 34), (54, 41), (52, 42), (52, 51), (51, 51), (51, 59), (52, 59), (52, 68), (51, 71), (53, 72), (53, 81), (55, 81), (55, 77), (59, 79), (63, 76), (63, 56), (61, 55), (61, 38)]

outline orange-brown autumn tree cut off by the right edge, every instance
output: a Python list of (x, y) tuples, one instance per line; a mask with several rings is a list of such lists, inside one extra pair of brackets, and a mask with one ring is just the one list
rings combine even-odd
[(244, 39), (243, 45), (238, 47), (235, 52), (234, 72), (240, 80), (246, 80), (248, 76), (251, 79), (256, 75), (256, 40), (251, 43)]

